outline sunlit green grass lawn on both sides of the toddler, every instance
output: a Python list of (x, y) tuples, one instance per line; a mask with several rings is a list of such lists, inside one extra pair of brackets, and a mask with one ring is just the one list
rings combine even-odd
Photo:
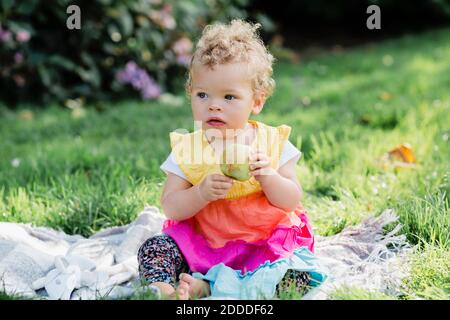
[[(254, 118), (292, 127), (318, 234), (396, 210), (419, 244), (407, 298), (449, 298), (449, 39), (447, 28), (280, 62), (276, 92)], [(81, 116), (57, 105), (0, 107), (0, 220), (85, 236), (129, 223), (145, 204), (160, 205), (169, 132), (192, 126), (186, 98), (182, 106), (121, 101)], [(416, 168), (383, 167), (401, 143), (412, 146)], [(373, 297), (355, 290), (337, 296)]]

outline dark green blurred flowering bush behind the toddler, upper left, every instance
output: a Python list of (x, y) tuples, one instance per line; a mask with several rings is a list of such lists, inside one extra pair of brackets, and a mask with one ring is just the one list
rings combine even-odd
[(204, 25), (245, 17), (246, 3), (79, 1), (81, 29), (69, 30), (66, 9), (72, 1), (2, 1), (0, 99), (48, 103), (132, 95), (130, 87), (116, 79), (129, 61), (156, 79), (162, 91), (175, 91)]

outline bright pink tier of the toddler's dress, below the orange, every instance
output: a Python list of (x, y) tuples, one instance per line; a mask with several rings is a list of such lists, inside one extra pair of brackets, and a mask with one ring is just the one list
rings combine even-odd
[(175, 240), (192, 272), (206, 273), (214, 265), (224, 263), (245, 273), (256, 270), (267, 261), (289, 257), (300, 247), (314, 252), (314, 235), (303, 207), (299, 206), (294, 212), (300, 218), (299, 226), (279, 225), (265, 239), (253, 242), (236, 239), (222, 247), (212, 247), (208, 243), (198, 231), (200, 228), (195, 216), (180, 222), (167, 220), (162, 231)]

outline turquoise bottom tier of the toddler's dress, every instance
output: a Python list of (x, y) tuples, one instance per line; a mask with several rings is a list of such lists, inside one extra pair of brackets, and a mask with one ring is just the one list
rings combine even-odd
[(234, 299), (273, 299), (277, 284), (287, 270), (306, 271), (311, 276), (311, 286), (318, 286), (327, 278), (318, 259), (306, 247), (294, 251), (289, 258), (266, 261), (258, 269), (242, 274), (223, 263), (213, 266), (205, 275), (196, 272), (196, 279), (207, 280), (211, 286), (212, 297)]

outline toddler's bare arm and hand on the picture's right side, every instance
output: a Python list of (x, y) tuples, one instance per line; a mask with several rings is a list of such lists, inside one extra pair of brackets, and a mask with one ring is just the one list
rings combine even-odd
[(302, 188), (297, 179), (295, 166), (300, 156), (286, 162), (277, 170), (270, 167), (269, 159), (264, 153), (256, 153), (251, 170), (252, 175), (259, 181), (271, 204), (286, 211), (297, 207), (302, 195)]

